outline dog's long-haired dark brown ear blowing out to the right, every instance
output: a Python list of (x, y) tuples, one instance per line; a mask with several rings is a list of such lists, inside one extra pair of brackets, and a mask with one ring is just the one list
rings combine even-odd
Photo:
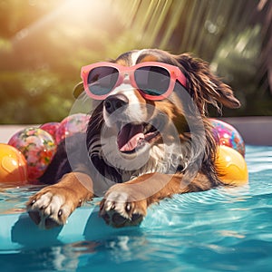
[(210, 72), (208, 63), (193, 58), (188, 53), (180, 54), (175, 58), (187, 77), (189, 93), (198, 103), (201, 111), (206, 109), (207, 104), (214, 105), (219, 111), (219, 103), (231, 109), (240, 106), (230, 87)]

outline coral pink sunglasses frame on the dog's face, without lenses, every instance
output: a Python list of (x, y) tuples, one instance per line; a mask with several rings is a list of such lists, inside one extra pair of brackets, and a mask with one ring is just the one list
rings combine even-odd
[[(106, 94), (102, 94), (102, 95), (96, 95), (93, 94), (89, 87), (88, 87), (88, 76), (89, 73), (92, 71), (92, 69), (94, 68), (99, 68), (99, 67), (112, 67), (115, 68), (118, 71), (118, 79), (116, 81), (116, 83), (114, 84), (114, 86), (112, 87), (112, 90)], [(141, 91), (141, 89), (138, 87), (136, 81), (135, 81), (135, 76), (134, 76), (134, 72), (141, 68), (141, 67), (147, 67), (147, 66), (152, 66), (152, 67), (160, 67), (160, 68), (164, 68), (166, 71), (168, 71), (168, 73), (170, 74), (170, 85), (168, 87), (168, 90), (166, 92), (163, 92), (160, 95), (150, 95), (147, 94), (143, 91)], [(81, 77), (83, 79), (83, 86), (84, 86), (84, 90), (85, 92), (87, 92), (87, 94), (95, 100), (104, 100), (106, 99), (110, 93), (119, 85), (121, 85), (121, 83), (123, 83), (124, 77), (129, 75), (130, 78), (130, 83), (131, 86), (135, 89), (137, 89), (139, 92), (141, 92), (141, 96), (147, 100), (151, 100), (151, 101), (158, 101), (158, 100), (163, 100), (167, 97), (170, 96), (170, 93), (173, 92), (174, 90), (174, 86), (176, 81), (179, 81), (185, 88), (186, 88), (186, 77), (185, 75), (180, 71), (180, 68), (174, 65), (170, 65), (168, 63), (160, 63), (160, 62), (144, 62), (144, 63), (138, 63), (136, 65), (133, 66), (123, 66), (120, 65), (118, 63), (107, 63), (107, 62), (101, 62), (101, 63), (92, 63), (86, 66), (82, 67), (81, 70)]]

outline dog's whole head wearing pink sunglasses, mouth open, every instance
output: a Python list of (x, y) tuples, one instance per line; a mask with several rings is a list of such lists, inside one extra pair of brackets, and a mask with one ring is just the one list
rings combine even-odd
[(87, 133), (92, 159), (115, 175), (185, 170), (196, 162), (209, 171), (216, 143), (207, 107), (239, 107), (228, 85), (189, 54), (146, 49), (111, 63), (82, 71), (95, 105)]

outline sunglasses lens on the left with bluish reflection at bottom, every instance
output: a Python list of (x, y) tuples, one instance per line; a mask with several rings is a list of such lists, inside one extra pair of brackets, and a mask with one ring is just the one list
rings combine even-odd
[(102, 66), (93, 68), (88, 75), (90, 92), (95, 95), (104, 95), (112, 91), (117, 83), (119, 72), (114, 67)]

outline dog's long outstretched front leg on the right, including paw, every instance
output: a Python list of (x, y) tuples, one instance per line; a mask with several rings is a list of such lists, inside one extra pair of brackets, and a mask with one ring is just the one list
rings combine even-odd
[(100, 215), (112, 227), (139, 225), (152, 203), (173, 194), (211, 187), (211, 182), (203, 174), (197, 174), (190, 182), (182, 174), (145, 174), (135, 180), (113, 185), (102, 199)]

